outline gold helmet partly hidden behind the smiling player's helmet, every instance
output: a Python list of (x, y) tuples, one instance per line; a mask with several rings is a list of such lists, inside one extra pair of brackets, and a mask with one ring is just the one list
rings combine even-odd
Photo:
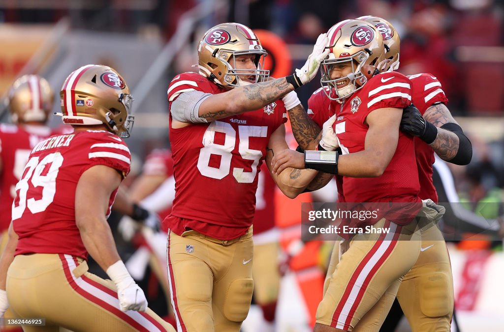
[(357, 20), (371, 23), (382, 34), (386, 59), (380, 71), (397, 70), (399, 68), (401, 39), (394, 26), (389, 21), (376, 16), (361, 16)]

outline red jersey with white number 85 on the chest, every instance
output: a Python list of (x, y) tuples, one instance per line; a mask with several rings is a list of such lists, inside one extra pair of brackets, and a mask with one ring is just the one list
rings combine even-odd
[[(185, 72), (168, 88), (173, 100), (186, 91), (225, 92), (207, 77)], [(287, 120), (281, 100), (253, 112), (171, 128), (175, 199), (164, 222), (176, 234), (194, 229), (227, 240), (243, 235), (254, 218), (258, 169), (271, 134)]]

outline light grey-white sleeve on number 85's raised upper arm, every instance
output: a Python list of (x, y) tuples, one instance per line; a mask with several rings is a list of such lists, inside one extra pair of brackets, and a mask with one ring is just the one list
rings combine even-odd
[(203, 123), (207, 119), (200, 117), (200, 105), (212, 96), (201, 91), (188, 91), (178, 95), (171, 103), (171, 117), (180, 122)]

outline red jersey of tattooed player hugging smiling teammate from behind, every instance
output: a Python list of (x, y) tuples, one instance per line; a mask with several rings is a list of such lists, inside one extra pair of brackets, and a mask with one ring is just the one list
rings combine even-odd
[[(448, 103), (448, 98), (441, 87), (441, 83), (431, 74), (421, 73), (408, 76), (412, 83), (413, 104), (422, 113), (434, 103)], [(437, 203), (437, 192), (432, 182), (432, 164), (434, 163), (434, 150), (415, 137), (416, 164), (420, 181), (420, 198), (430, 198)]]

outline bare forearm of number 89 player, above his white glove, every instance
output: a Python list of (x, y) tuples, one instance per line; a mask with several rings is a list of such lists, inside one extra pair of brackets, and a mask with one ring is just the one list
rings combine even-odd
[(104, 218), (87, 216), (78, 220), (77, 226), (86, 250), (103, 271), (120, 260), (112, 231)]

